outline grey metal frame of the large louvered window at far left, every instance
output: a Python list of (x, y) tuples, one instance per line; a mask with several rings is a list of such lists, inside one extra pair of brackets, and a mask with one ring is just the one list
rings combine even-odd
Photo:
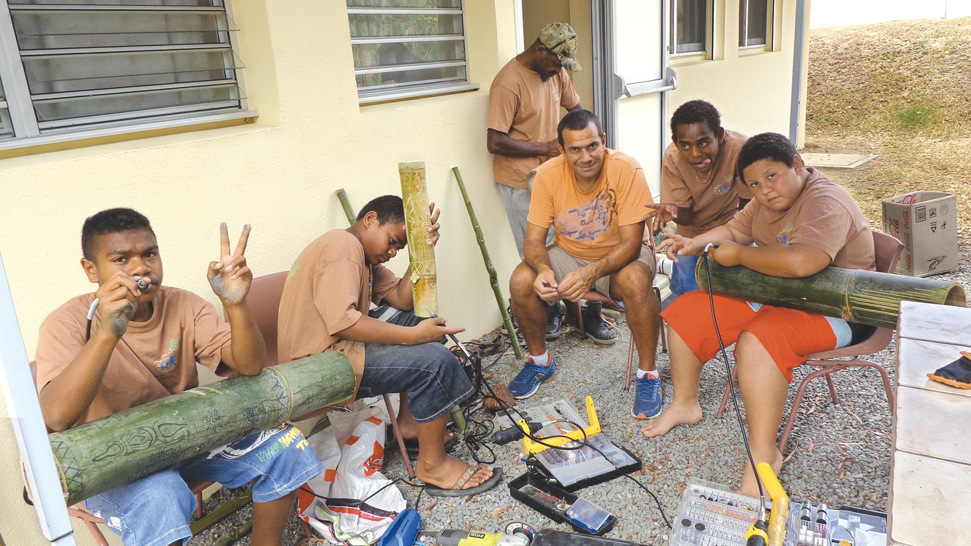
[[(213, 6), (216, 9), (207, 9), (208, 7), (192, 7), (193, 9), (179, 9), (175, 7), (172, 10), (172, 6), (111, 6), (108, 8), (100, 7), (98, 5), (91, 6), (73, 6), (75, 8), (83, 8), (80, 11), (174, 11), (174, 12), (217, 12), (221, 13), (225, 11), (225, 16), (227, 21), (232, 21), (233, 12), (231, 0), (219, 0), (221, 7)], [(22, 5), (31, 6), (34, 5)], [(43, 6), (43, 5), (42, 5)], [(55, 8), (56, 9), (56, 8)], [(16, 10), (16, 8), (15, 8)], [(70, 10), (66, 10), (70, 11)], [(213, 49), (225, 49), (233, 58), (241, 58), (239, 54), (239, 44), (238, 40), (234, 39), (232, 33), (235, 32), (233, 29), (226, 29), (227, 33), (227, 43), (228, 48), (224, 47), (214, 47)], [(138, 47), (132, 47), (138, 48)], [(118, 48), (124, 49), (124, 48)], [(186, 48), (191, 49), (191, 48)], [(135, 112), (149, 112), (150, 115), (139, 117), (136, 119), (119, 119), (118, 121), (111, 121), (113, 116), (123, 115), (123, 113), (108, 113), (98, 116), (85, 116), (70, 118), (63, 120), (63, 127), (50, 127), (44, 128), (42, 130), (41, 125), (44, 122), (37, 118), (37, 112), (34, 110), (34, 100), (31, 98), (30, 89), (27, 84), (26, 69), (23, 65), (23, 57), (21, 54), (19, 44), (17, 43), (17, 34), (14, 28), (14, 19), (11, 14), (11, 8), (8, 0), (0, 0), (0, 84), (3, 85), (5, 105), (0, 106), (0, 108), (7, 108), (11, 118), (11, 125), (14, 129), (13, 137), (0, 138), (0, 150), (15, 149), (26, 146), (33, 145), (48, 145), (62, 142), (69, 142), (75, 140), (84, 140), (98, 137), (123, 135), (129, 133), (138, 133), (142, 131), (151, 131), (154, 129), (166, 129), (172, 127), (183, 127), (189, 125), (214, 123), (219, 121), (229, 121), (234, 119), (247, 119), (259, 115), (259, 112), (250, 110), (247, 103), (246, 96), (246, 86), (243, 80), (243, 67), (223, 70), (232, 70), (235, 76), (235, 85), (239, 89), (239, 99), (235, 99), (235, 102), (239, 103), (239, 108), (233, 110), (218, 110), (212, 112), (193, 112), (191, 105), (184, 105), (181, 107), (168, 107), (161, 109), (145, 109), (144, 111)], [(31, 56), (31, 55), (25, 55)], [(220, 80), (221, 81), (221, 80)], [(231, 81), (231, 80), (229, 80)], [(218, 84), (217, 80), (214, 80), (210, 85)], [(223, 83), (225, 84), (225, 83)], [(200, 84), (198, 86), (205, 86), (205, 84)], [(135, 87), (144, 86), (128, 86), (128, 87), (116, 87), (108, 88), (104, 90), (98, 90), (91, 95), (95, 94), (110, 94), (111, 89), (133, 89)], [(179, 88), (189, 87), (189, 85), (180, 86), (178, 83), (174, 83), (170, 86), (173, 90), (178, 90)], [(35, 95), (42, 96), (42, 93), (35, 93)], [(3, 101), (0, 101), (3, 102)], [(154, 111), (152, 113), (152, 111)], [(91, 118), (104, 118), (103, 121), (90, 120)], [(89, 119), (87, 124), (71, 124), (71, 119)], [(51, 123), (51, 125), (57, 124), (58, 122)]]

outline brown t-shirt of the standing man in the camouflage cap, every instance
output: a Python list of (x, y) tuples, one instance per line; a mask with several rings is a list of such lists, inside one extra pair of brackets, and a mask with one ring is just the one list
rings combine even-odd
[[(559, 107), (574, 108), (580, 95), (565, 69), (549, 80), (521, 64), (514, 57), (499, 70), (488, 90), (488, 128), (506, 133), (517, 141), (545, 143), (556, 138)], [(526, 187), (526, 175), (549, 157), (492, 156), (496, 183)]]

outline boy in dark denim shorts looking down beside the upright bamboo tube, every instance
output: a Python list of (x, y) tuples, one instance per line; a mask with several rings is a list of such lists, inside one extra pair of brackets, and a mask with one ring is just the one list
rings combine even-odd
[[(438, 241), (432, 204), (428, 240)], [(414, 241), (413, 241), (414, 242)], [(350, 228), (331, 230), (300, 253), (280, 304), (279, 351), (289, 361), (326, 350), (348, 356), (356, 398), (401, 393), (397, 420), (407, 440), (418, 438), (416, 473), (432, 496), (475, 495), (501, 472), (446, 455), (449, 412), (473, 394), (458, 361), (440, 341), (462, 328), (414, 313), (411, 268), (398, 278), (383, 265), (408, 243), (401, 198), (385, 195), (364, 206)], [(380, 305), (370, 310), (370, 305)]]

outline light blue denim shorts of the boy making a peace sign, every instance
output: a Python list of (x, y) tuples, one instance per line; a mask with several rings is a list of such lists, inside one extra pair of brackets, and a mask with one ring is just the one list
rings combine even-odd
[(88, 498), (84, 507), (105, 520), (126, 546), (167, 546), (192, 536), (195, 496), (185, 480), (212, 480), (228, 488), (252, 484), (253, 502), (284, 497), (323, 471), (293, 425), (251, 434), (169, 466), (127, 485)]

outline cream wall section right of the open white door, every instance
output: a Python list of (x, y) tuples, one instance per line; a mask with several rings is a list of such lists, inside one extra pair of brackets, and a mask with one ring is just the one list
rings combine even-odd
[(715, 0), (715, 60), (671, 60), (678, 73), (678, 88), (670, 92), (671, 112), (686, 101), (704, 99), (719, 109), (726, 128), (747, 135), (788, 135), (796, 1), (774, 4), (776, 46), (767, 51), (739, 49), (738, 0)]

